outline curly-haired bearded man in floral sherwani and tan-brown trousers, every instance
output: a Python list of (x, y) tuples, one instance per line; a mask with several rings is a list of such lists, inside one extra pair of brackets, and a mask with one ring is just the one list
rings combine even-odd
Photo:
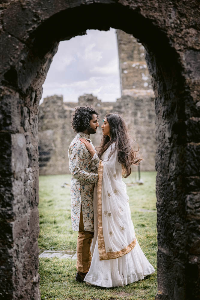
[[(77, 241), (76, 280), (81, 282), (91, 265), (90, 246), (94, 236), (93, 192), (98, 181), (97, 168), (91, 154), (80, 138), (88, 140), (95, 134), (99, 113), (91, 106), (77, 107), (73, 114), (72, 127), (77, 132), (68, 150), (71, 178), (71, 220), (72, 229), (79, 231)], [(94, 148), (94, 146), (92, 145)], [(95, 148), (94, 148), (95, 149)]]

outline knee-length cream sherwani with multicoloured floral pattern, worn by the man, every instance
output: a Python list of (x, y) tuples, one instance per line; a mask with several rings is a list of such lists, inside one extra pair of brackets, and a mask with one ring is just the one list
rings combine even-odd
[(72, 174), (72, 229), (79, 230), (80, 211), (82, 205), (84, 229), (86, 231), (94, 231), (93, 192), (94, 185), (98, 181), (98, 170), (92, 161), (91, 154), (88, 152), (85, 145), (80, 142), (80, 138), (89, 140), (92, 145), (88, 134), (78, 132), (71, 142), (68, 150), (68, 157), (70, 161), (69, 169)]

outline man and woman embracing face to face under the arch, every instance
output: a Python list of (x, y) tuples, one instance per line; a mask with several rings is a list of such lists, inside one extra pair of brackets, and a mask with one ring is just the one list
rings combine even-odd
[[(71, 220), (79, 231), (76, 280), (89, 285), (113, 287), (154, 273), (135, 237), (129, 198), (122, 176), (139, 164), (122, 117), (109, 113), (103, 119), (98, 155), (90, 140), (98, 112), (78, 107), (72, 127), (77, 132), (70, 144)], [(93, 201), (94, 199), (94, 201)]]

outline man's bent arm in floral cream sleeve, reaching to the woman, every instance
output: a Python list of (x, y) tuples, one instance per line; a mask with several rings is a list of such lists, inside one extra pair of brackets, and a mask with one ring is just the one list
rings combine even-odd
[(85, 146), (79, 142), (71, 147), (69, 151), (70, 173), (78, 180), (96, 183), (98, 181), (98, 174), (87, 172), (87, 169), (89, 168), (85, 165), (85, 153), (83, 147)]

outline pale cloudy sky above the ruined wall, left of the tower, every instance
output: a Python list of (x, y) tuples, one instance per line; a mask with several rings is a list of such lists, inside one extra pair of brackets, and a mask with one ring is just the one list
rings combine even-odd
[(85, 93), (106, 102), (121, 97), (115, 29), (87, 30), (87, 35), (60, 42), (43, 84), (41, 102), (55, 94), (63, 95), (66, 102), (76, 102)]

